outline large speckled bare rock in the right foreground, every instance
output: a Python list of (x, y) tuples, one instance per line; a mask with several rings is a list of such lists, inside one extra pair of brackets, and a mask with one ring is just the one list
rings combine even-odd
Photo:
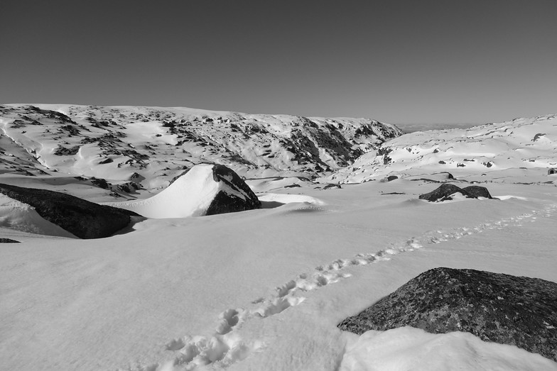
[(402, 326), (430, 333), (465, 331), (557, 361), (557, 283), (435, 268), (338, 325), (357, 334)]

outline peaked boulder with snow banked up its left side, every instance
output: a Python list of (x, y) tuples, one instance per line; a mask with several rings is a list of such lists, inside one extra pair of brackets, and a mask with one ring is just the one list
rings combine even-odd
[(225, 165), (200, 164), (148, 199), (108, 203), (147, 218), (185, 218), (259, 209), (252, 189)]

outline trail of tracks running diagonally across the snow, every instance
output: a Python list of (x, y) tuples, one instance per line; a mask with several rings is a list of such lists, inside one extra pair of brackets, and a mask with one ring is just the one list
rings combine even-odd
[(404, 253), (423, 248), (424, 245), (434, 245), (458, 240), (475, 233), (487, 230), (504, 229), (509, 226), (523, 226), (526, 221), (534, 222), (539, 216), (551, 217), (557, 211), (557, 204), (545, 206), (543, 210), (533, 210), (531, 213), (522, 214), (499, 221), (488, 221), (473, 227), (455, 228), (450, 231), (430, 231), (418, 237), (410, 238), (405, 243), (391, 245), (376, 253), (360, 253), (351, 259), (337, 259), (326, 265), (315, 267), (313, 272), (303, 273), (295, 279), (276, 287), (276, 294), (252, 301), (252, 309), (227, 309), (217, 319), (215, 333), (211, 336), (184, 336), (171, 340), (166, 344), (166, 350), (177, 352), (173, 360), (163, 365), (150, 365), (141, 371), (164, 370), (168, 365), (181, 370), (195, 370), (201, 365), (214, 365), (227, 367), (234, 362), (243, 360), (249, 354), (262, 350), (265, 344), (260, 340), (244, 340), (234, 330), (242, 323), (251, 319), (265, 319), (280, 314), (288, 308), (298, 306), (305, 297), (297, 295), (298, 292), (311, 292), (320, 287), (334, 284), (342, 279), (351, 277), (350, 273), (342, 272), (346, 267), (364, 266), (376, 262), (390, 260), (391, 255)]

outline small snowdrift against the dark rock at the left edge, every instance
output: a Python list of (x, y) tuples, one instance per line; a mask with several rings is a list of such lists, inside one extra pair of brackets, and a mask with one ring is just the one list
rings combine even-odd
[(41, 217), (33, 206), (0, 194), (0, 227), (45, 236), (77, 238), (64, 228)]

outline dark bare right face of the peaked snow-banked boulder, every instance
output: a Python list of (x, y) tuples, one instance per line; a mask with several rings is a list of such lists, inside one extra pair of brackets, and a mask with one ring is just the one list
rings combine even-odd
[(261, 209), (261, 201), (251, 188), (242, 180), (234, 170), (225, 165), (213, 165), (212, 177), (215, 182), (224, 182), (228, 187), (244, 195), (244, 199), (220, 191), (211, 201), (205, 215), (233, 213), (252, 209)]

